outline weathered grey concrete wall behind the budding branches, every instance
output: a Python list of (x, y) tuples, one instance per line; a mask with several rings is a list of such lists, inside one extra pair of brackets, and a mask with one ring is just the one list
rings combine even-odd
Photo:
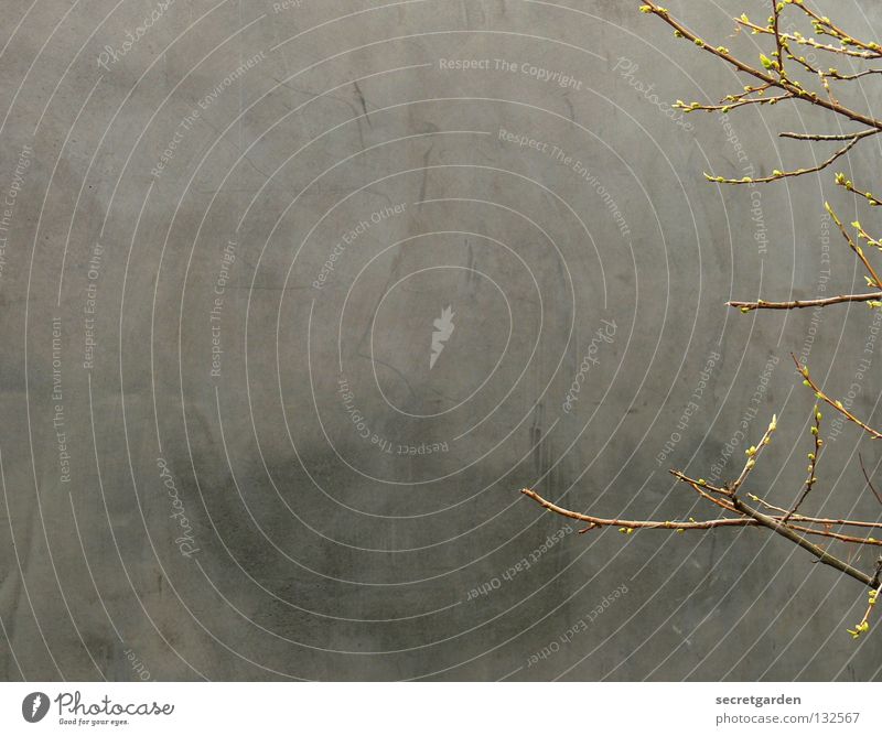
[[(703, 518), (667, 470), (736, 476), (777, 413), (751, 483), (793, 502), (792, 351), (875, 409), (879, 313), (724, 306), (860, 289), (822, 202), (872, 213), (701, 176), (839, 122), (675, 115), (744, 78), (637, 4), (3, 3), (0, 677), (879, 677), (863, 591), (786, 541), (518, 493)], [(667, 4), (760, 53), (731, 18), (767, 2)], [(814, 510), (879, 516), (858, 452), (829, 436)]]

